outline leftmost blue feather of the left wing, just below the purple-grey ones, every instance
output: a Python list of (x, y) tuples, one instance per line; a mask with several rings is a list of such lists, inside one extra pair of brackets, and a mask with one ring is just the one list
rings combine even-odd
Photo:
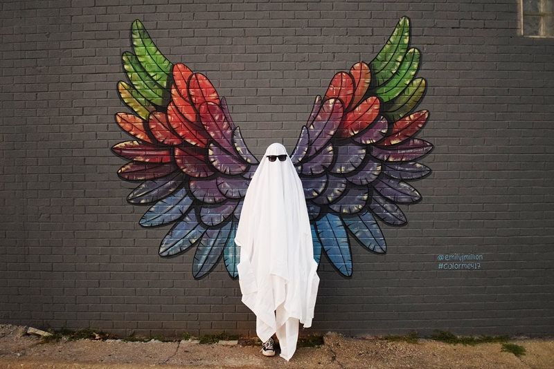
[(190, 205), (193, 205), (193, 198), (188, 196), (188, 190), (179, 189), (152, 205), (143, 215), (139, 224), (143, 227), (156, 227), (175, 222), (190, 209)]

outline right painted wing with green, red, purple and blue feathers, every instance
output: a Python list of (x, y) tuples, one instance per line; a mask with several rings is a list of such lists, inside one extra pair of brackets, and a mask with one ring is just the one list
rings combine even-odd
[(413, 137), (429, 117), (413, 112), (425, 92), (425, 79), (415, 78), (419, 62), (419, 50), (409, 48), (409, 19), (402, 17), (373, 61), (334, 75), (294, 149), (316, 261), (323, 249), (344, 276), (352, 275), (350, 241), (385, 253), (377, 220), (404, 225), (398, 204), (421, 198), (406, 181), (430, 173), (414, 161), (433, 147)]

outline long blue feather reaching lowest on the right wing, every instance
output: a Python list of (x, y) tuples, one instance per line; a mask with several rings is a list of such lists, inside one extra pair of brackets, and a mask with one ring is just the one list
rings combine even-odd
[(327, 214), (316, 222), (319, 239), (331, 263), (344, 276), (352, 275), (352, 256), (348, 235), (341, 218), (334, 214)]

